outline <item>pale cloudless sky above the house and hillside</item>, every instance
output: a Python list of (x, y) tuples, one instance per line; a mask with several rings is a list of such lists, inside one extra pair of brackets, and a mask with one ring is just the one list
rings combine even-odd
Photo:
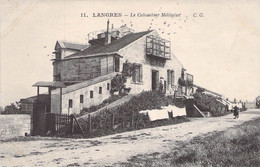
[[(93, 17), (103, 12), (123, 16)], [(57, 40), (87, 44), (87, 34), (105, 29), (107, 19), (136, 32), (155, 29), (171, 41), (171, 51), (195, 84), (229, 99), (252, 101), (260, 95), (259, 17), (257, 0), (1, 1), (0, 106), (36, 95), (32, 85), (37, 81), (52, 81), (50, 60)]]

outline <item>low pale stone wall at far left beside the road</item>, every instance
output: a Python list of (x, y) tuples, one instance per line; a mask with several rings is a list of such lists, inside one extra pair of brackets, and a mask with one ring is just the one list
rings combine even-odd
[(30, 115), (0, 115), (0, 139), (24, 136), (30, 130)]

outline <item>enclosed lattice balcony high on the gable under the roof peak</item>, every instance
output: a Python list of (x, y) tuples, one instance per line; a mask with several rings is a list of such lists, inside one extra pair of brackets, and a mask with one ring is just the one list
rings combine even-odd
[(171, 42), (153, 35), (147, 36), (146, 55), (164, 60), (171, 59)]

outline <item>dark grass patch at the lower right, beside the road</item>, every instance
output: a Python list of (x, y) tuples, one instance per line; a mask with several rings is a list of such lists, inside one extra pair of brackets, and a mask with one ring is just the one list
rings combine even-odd
[(131, 157), (120, 166), (260, 166), (260, 118), (179, 142), (168, 153)]

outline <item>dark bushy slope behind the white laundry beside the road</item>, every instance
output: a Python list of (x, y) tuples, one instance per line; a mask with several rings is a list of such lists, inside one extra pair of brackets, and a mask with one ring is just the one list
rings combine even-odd
[[(91, 133), (87, 137), (102, 136), (132, 129), (156, 127), (187, 121), (183, 117), (172, 120), (159, 120), (150, 122), (148, 115), (139, 114), (141, 110), (161, 109), (162, 106), (177, 103), (172, 98), (165, 97), (157, 91), (142, 92), (139, 96), (133, 97), (123, 105), (106, 110), (91, 120)], [(179, 105), (183, 105), (180, 101)], [(89, 122), (85, 124), (85, 131), (88, 131)]]

